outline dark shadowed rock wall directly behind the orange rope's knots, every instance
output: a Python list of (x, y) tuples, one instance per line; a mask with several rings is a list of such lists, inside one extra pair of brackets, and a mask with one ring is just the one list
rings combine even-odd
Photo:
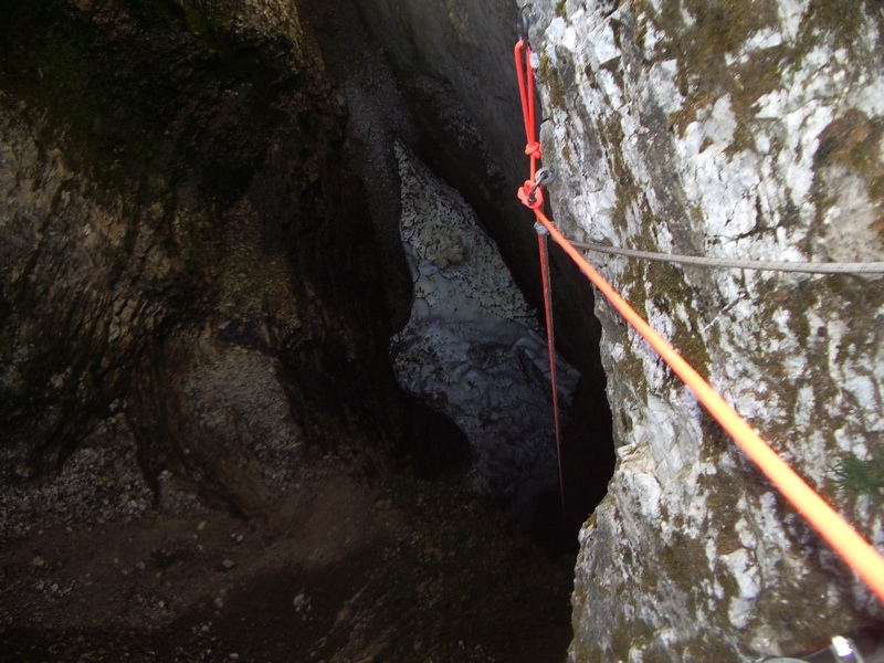
[[(385, 113), (396, 117), (404, 107), (413, 118), (407, 133), (393, 126), (386, 134), (388, 140), (391, 135), (401, 136), (421, 161), (456, 189), (498, 246), (527, 302), (541, 311), (534, 219), (514, 193), (527, 170), (513, 69), (517, 4), (349, 0), (340, 3), (340, 11), (350, 3), (396, 74), (396, 94), (385, 96)], [(358, 88), (360, 81), (372, 82), (361, 83), (369, 92), (372, 87), (390, 90), (388, 82), (377, 83), (380, 67), (373, 59), (366, 60), (370, 64), (362, 66), (360, 77), (349, 82), (348, 90)], [(365, 115), (365, 110), (358, 114)], [(372, 125), (371, 138), (383, 136), (383, 129), (378, 129), (390, 124), (381, 115)], [(373, 151), (376, 164), (378, 152)], [(387, 166), (390, 160), (381, 164)], [(611, 415), (598, 352), (601, 327), (592, 312), (592, 288), (555, 248), (550, 263), (557, 347), (581, 376), (562, 441), (566, 495), (570, 496), (567, 519), (576, 530), (603, 496), (611, 475)], [(549, 435), (551, 440), (551, 430)]]

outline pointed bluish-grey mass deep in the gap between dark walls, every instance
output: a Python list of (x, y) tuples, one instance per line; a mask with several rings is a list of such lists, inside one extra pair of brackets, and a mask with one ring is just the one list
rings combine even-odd
[[(509, 502), (556, 492), (548, 354), (535, 312), (463, 199), (409, 150), (398, 155), (414, 303), (391, 344), (397, 377), (464, 431), (471, 487)], [(562, 409), (578, 377), (558, 362)]]

